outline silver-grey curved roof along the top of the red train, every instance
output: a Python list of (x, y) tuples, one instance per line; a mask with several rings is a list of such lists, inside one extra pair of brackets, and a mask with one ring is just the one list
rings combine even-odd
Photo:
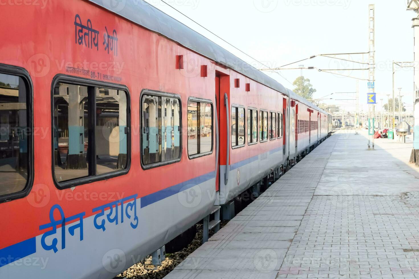
[[(205, 36), (202, 36), (180, 21), (177, 21), (143, 0), (121, 0), (114, 6), (108, 5), (112, 2), (112, 0), (89, 1), (127, 18), (129, 21), (161, 34), (172, 41), (176, 41), (178, 44), (181, 44), (194, 52), (202, 54), (203, 56), (212, 59), (221, 65), (240, 72), (246, 77), (262, 83), (287, 96), (290, 96), (290, 92), (292, 92), (273, 78), (270, 78), (261, 71), (257, 70), (255, 67), (236, 57), (231, 52), (228, 52), (226, 49), (222, 48), (218, 44), (215, 44)], [(314, 106), (313, 103), (310, 103), (305, 99), (301, 102), (308, 104), (308, 106), (316, 110), (321, 110)]]

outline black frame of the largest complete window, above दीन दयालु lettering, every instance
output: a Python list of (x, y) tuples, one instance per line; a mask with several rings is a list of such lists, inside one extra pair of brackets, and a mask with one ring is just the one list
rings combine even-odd
[[(62, 75), (58, 74), (56, 75), (51, 83), (51, 104), (50, 104), (50, 111), (51, 111), (51, 131), (54, 131), (54, 88), (57, 85), (57, 83), (68, 83), (72, 85), (81, 85), (81, 86), (87, 86), (88, 88), (91, 87), (98, 87), (98, 88), (109, 88), (109, 89), (116, 89), (116, 90), (122, 90), (125, 91), (127, 94), (127, 167), (123, 170), (116, 170), (110, 173), (103, 173), (103, 174), (96, 174), (92, 176), (85, 176), (81, 178), (75, 178), (68, 181), (57, 181), (57, 178), (55, 177), (55, 164), (54, 164), (54, 152), (51, 152), (51, 158), (52, 158), (52, 164), (51, 164), (51, 170), (52, 170), (52, 180), (54, 181), (55, 186), (60, 189), (68, 189), (75, 186), (80, 186), (84, 184), (90, 184), (97, 181), (107, 180), (109, 178), (114, 178), (118, 176), (123, 176), (129, 173), (129, 170), (131, 169), (131, 94), (128, 90), (128, 87), (126, 85), (121, 85), (117, 83), (106, 83), (98, 80), (91, 80), (87, 78), (78, 78), (70, 75)], [(96, 97), (96, 96), (95, 96)], [(96, 103), (91, 104), (91, 108), (94, 107), (96, 110)], [(96, 114), (93, 114), (94, 117), (90, 119), (92, 123), (96, 123), (93, 121), (96, 121)], [(89, 141), (90, 142), (90, 141)], [(92, 139), (92, 144), (96, 144), (95, 138)], [(96, 145), (94, 146), (95, 154), (96, 154)], [(54, 132), (51, 133), (51, 150), (54, 150)], [(92, 156), (93, 157), (93, 156)], [(93, 163), (93, 162), (91, 162)], [(94, 160), (94, 164), (96, 165), (96, 159)]]

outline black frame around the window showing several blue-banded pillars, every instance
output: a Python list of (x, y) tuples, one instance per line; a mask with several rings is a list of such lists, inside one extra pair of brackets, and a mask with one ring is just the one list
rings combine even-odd
[[(180, 157), (178, 159), (172, 159), (172, 160), (168, 160), (168, 161), (165, 161), (165, 162), (157, 162), (157, 163), (152, 163), (152, 164), (149, 164), (149, 165), (144, 165), (144, 163), (142, 161), (143, 156), (142, 156), (142, 134), (141, 134), (141, 132), (142, 132), (141, 124), (142, 124), (142, 117), (143, 117), (142, 116), (142, 98), (144, 97), (144, 95), (178, 99), (179, 108), (180, 108), (180, 110), (179, 110), (179, 116), (180, 116), (180, 121), (179, 121), (180, 127), (179, 127), (179, 129), (181, 130), (181, 132), (180, 132), (180, 147), (179, 147)], [(158, 168), (158, 167), (161, 167), (161, 166), (164, 166), (164, 165), (171, 165), (171, 164), (180, 162), (181, 159), (182, 159), (182, 153), (183, 153), (182, 152), (182, 148), (183, 148), (183, 141), (182, 141), (183, 125), (182, 124), (183, 123), (182, 123), (182, 98), (181, 98), (181, 96), (179, 94), (167, 93), (167, 92), (163, 92), (163, 91), (159, 91), (159, 90), (143, 89), (143, 90), (141, 90), (141, 93), (140, 93), (139, 105), (140, 105), (140, 109), (139, 109), (139, 112), (140, 112), (140, 118), (139, 118), (139, 120), (140, 120), (140, 134), (139, 135), (140, 135), (140, 165), (141, 165), (141, 168), (144, 171), (147, 171), (147, 170), (150, 170), (152, 168)]]

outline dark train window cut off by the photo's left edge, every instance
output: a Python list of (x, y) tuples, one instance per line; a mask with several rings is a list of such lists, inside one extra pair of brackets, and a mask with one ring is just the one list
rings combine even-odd
[(26, 196), (32, 185), (32, 96), (26, 70), (0, 64), (0, 202)]

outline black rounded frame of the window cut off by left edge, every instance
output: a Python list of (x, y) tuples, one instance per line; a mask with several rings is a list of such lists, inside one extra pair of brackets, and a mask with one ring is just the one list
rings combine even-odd
[(34, 131), (34, 87), (29, 72), (22, 67), (0, 63), (0, 74), (14, 75), (23, 79), (27, 88), (26, 120), (28, 125), (26, 128), (30, 131), (28, 135), (28, 178), (26, 179), (25, 187), (22, 191), (0, 196), (0, 203), (3, 203), (28, 196), (34, 184), (34, 133), (32, 132)]

